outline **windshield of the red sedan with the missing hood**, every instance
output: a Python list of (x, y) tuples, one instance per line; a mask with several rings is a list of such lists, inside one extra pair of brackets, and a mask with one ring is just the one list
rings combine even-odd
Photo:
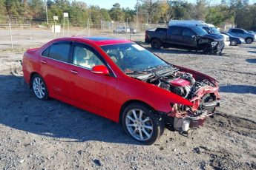
[(138, 44), (114, 44), (101, 47), (123, 72), (142, 72), (157, 67), (171, 67)]

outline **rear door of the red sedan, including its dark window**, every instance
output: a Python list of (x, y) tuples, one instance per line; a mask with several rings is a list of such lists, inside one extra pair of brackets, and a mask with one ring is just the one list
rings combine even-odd
[(60, 41), (47, 47), (39, 57), (40, 72), (50, 95), (67, 97), (68, 58), (71, 42)]

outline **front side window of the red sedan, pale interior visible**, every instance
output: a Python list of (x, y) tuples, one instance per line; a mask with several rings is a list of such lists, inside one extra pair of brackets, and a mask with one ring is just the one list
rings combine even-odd
[(97, 65), (104, 65), (94, 52), (87, 47), (76, 45), (73, 49), (73, 64), (92, 69)]

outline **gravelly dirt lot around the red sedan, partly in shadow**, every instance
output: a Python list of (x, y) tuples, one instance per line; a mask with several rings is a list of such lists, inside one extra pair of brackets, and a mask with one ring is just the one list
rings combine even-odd
[(256, 44), (226, 47), (223, 56), (153, 52), (219, 80), (229, 103), (188, 137), (166, 129), (142, 146), (110, 120), (37, 100), (23, 83), (23, 50), (1, 50), (0, 169), (256, 169)]

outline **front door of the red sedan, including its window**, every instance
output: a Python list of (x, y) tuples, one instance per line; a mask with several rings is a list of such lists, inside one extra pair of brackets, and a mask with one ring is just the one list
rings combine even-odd
[[(86, 44), (73, 44), (73, 59), (68, 66), (69, 98), (91, 112), (110, 114), (115, 106), (116, 77), (91, 72), (93, 66), (108, 64)], [(111, 72), (111, 69), (109, 69)]]

